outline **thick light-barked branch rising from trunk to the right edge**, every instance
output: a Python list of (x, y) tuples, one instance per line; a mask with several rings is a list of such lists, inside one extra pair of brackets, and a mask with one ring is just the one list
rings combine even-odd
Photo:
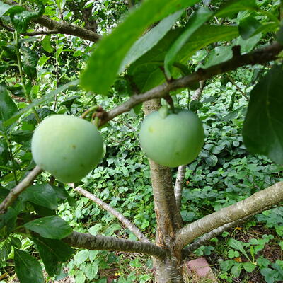
[(247, 197), (246, 200), (224, 207), (218, 212), (204, 216), (202, 219), (198, 219), (183, 227), (177, 233), (175, 245), (178, 249), (182, 249), (195, 238), (213, 229), (253, 215), (255, 212), (268, 209), (282, 201), (283, 182), (279, 182), (271, 187), (267, 187), (265, 190), (255, 192), (255, 194)]

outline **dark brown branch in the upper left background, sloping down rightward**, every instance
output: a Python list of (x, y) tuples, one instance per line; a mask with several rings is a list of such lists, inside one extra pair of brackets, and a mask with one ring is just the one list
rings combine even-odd
[[(16, 4), (11, 0), (4, 0), (4, 3), (15, 6)], [(28, 11), (32, 11), (30, 8), (26, 7)], [(83, 40), (89, 40), (92, 42), (97, 42), (100, 39), (100, 35), (94, 33), (91, 30), (87, 30), (86, 28), (81, 28), (78, 25), (71, 25), (65, 22), (57, 22), (51, 20), (47, 16), (41, 16), (33, 19), (35, 23), (45, 26), (50, 30), (58, 30), (57, 33), (62, 33), (64, 35), (74, 35), (77, 37), (81, 37)], [(47, 34), (47, 33), (45, 33)], [(49, 33), (50, 34), (50, 33)]]

